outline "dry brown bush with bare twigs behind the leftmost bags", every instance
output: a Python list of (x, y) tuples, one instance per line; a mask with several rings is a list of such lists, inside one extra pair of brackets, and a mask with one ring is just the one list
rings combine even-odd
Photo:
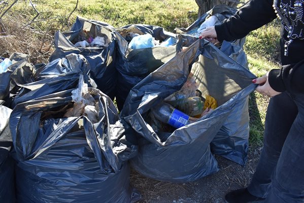
[[(26, 8), (12, 9), (17, 0), (0, 1), (0, 56), (9, 57), (14, 52), (28, 54), (33, 64), (48, 62), (54, 51), (53, 36), (55, 31), (67, 26), (72, 13), (62, 16), (40, 15), (32, 0), (20, 0)], [(21, 7), (22, 8), (22, 7)], [(33, 14), (34, 13), (34, 14)], [(43, 25), (43, 28), (40, 27)]]

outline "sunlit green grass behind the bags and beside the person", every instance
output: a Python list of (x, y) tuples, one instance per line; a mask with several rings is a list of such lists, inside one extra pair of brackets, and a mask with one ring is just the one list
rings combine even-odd
[[(195, 0), (80, 0), (77, 9), (68, 17), (76, 6), (76, 0), (37, 0), (32, 2), (36, 4), (40, 15), (36, 19), (38, 21), (31, 23), (31, 26), (42, 33), (45, 30), (48, 31), (45, 32), (47, 35), (40, 33), (33, 36), (37, 38), (32, 40), (38, 41), (43, 40), (46, 36), (52, 36), (56, 30), (69, 30), (76, 16), (104, 21), (114, 27), (140, 23), (157, 25), (167, 31), (173, 31), (176, 27), (187, 27), (194, 22), (198, 10)], [(11, 17), (14, 16), (14, 19), (17, 19), (15, 24), (17, 21), (22, 24), (30, 22), (36, 14), (28, 1), (20, 0), (5, 15), (3, 20), (10, 25), (12, 23)], [(12, 25), (15, 24), (8, 27), (14, 27)], [(278, 26), (276, 21), (251, 32), (247, 37), (244, 49), (248, 56), (250, 71), (258, 77), (278, 67)], [(12, 30), (12, 35), (16, 34), (14, 31)], [(24, 32), (24, 29), (18, 30), (19, 34), (20, 32)], [(21, 45), (18, 46), (25, 47), (24, 52), (29, 50), (28, 43), (23, 42), (22, 44), (22, 39), (19, 41)], [(5, 45), (5, 43), (2, 44), (2, 46)], [(12, 52), (7, 45), (2, 47), (0, 51), (1, 55), (4, 55), (5, 52)], [(35, 53), (44, 54), (47, 58), (50, 52), (51, 49), (45, 48)], [(268, 97), (256, 92), (250, 95), (250, 143), (252, 145), (261, 144), (268, 100)]]

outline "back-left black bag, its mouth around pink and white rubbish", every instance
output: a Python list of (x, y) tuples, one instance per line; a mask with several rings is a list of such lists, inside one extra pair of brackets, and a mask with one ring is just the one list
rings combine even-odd
[[(107, 46), (102, 47), (76, 47), (74, 44), (80, 40), (85, 31), (95, 37), (104, 37)], [(113, 27), (107, 23), (87, 20), (77, 17), (71, 31), (55, 33), (55, 51), (49, 58), (57, 58), (75, 53), (82, 54), (89, 62), (91, 78), (96, 82), (97, 88), (114, 99), (117, 71), (115, 69), (116, 37)]]

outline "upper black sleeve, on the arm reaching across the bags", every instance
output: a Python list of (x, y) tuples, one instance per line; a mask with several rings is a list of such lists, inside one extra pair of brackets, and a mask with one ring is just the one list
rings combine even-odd
[(219, 41), (244, 38), (250, 31), (273, 21), (276, 17), (273, 0), (251, 0), (221, 25), (215, 26), (217, 38)]

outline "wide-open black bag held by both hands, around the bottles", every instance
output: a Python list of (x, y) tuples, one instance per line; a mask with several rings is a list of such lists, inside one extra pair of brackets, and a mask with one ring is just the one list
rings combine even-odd
[[(213, 96), (218, 108), (196, 122), (156, 133), (148, 124), (151, 108), (180, 90), (190, 71), (202, 95)], [(132, 167), (149, 178), (170, 182), (195, 181), (217, 172), (210, 143), (228, 117), (239, 117), (233, 110), (243, 106), (254, 90), (253, 78), (242, 65), (205, 40), (195, 41), (159, 67), (131, 89), (121, 112), (141, 138)]]

